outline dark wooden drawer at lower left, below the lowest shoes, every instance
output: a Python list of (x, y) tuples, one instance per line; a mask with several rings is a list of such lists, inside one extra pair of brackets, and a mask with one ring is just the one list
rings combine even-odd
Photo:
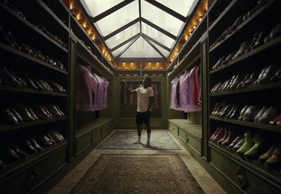
[(66, 162), (66, 145), (46, 155), (39, 162), (23, 169), (0, 183), (1, 194), (28, 193), (62, 168)]

